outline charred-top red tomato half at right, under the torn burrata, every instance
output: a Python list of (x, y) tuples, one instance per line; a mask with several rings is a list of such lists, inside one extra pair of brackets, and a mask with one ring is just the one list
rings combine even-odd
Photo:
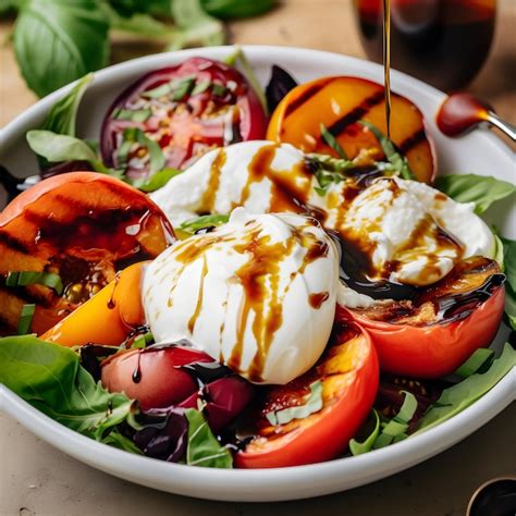
[(336, 317), (371, 335), (382, 371), (438, 378), (491, 344), (503, 315), (503, 283), (495, 261), (470, 258), (414, 302), (369, 309), (337, 307)]

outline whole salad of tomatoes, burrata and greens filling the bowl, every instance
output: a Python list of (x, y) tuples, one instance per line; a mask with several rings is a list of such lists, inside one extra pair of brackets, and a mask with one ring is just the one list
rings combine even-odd
[(2, 170), (0, 381), (35, 408), (281, 468), (413, 439), (512, 370), (516, 244), (481, 214), (515, 187), (440, 175), (409, 98), (388, 128), (382, 85), (274, 65), (262, 90), (237, 50), (127, 84), (90, 142), (91, 81), (27, 132), (39, 171)]

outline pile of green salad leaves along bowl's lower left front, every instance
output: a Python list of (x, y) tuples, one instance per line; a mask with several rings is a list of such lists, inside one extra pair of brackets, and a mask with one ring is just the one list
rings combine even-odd
[[(110, 393), (100, 381), (96, 382), (81, 365), (79, 355), (71, 348), (34, 335), (0, 339), (0, 383), (83, 435), (127, 452), (147, 452), (152, 456), (148, 440), (142, 449), (135, 444), (144, 442), (142, 432), (146, 429), (145, 414), (137, 402), (123, 393)], [(217, 441), (200, 411), (188, 408), (175, 416), (187, 423), (183, 434), (176, 438), (184, 440), (184, 456), (175, 457), (174, 462), (184, 459), (186, 464), (221, 468), (232, 466), (231, 453)], [(162, 419), (168, 417), (165, 414)], [(160, 422), (167, 431), (165, 422)], [(156, 426), (157, 421), (152, 421), (150, 428)], [(167, 437), (158, 435), (161, 445)]]

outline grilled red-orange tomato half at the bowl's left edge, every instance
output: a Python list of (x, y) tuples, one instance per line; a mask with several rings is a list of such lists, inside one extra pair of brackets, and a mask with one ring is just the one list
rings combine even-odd
[[(112, 281), (127, 265), (158, 256), (173, 231), (143, 193), (105, 174), (71, 172), (41, 181), (0, 214), (0, 334), (16, 332), (24, 304), (35, 304), (40, 334)], [(5, 286), (9, 272), (59, 274), (48, 286)]]

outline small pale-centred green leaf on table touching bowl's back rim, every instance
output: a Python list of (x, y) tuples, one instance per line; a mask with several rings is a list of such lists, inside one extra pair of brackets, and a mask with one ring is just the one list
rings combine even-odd
[(173, 0), (172, 16), (179, 30), (168, 50), (179, 50), (197, 42), (202, 46), (224, 44), (222, 24), (202, 9), (200, 0)]

